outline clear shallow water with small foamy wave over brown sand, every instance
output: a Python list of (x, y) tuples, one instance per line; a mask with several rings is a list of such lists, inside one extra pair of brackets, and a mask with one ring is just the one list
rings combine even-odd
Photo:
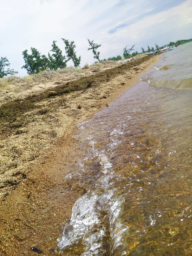
[[(140, 82), (79, 125), (87, 188), (58, 238), (81, 256), (192, 255), (192, 43), (163, 53)], [(184, 89), (184, 90), (183, 90)]]

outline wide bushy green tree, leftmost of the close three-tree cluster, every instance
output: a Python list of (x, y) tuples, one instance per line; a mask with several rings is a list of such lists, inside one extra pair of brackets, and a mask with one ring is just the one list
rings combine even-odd
[(28, 50), (23, 51), (23, 59), (25, 65), (21, 68), (25, 68), (28, 74), (36, 74), (42, 70), (46, 70), (49, 67), (49, 60), (45, 55), (41, 55), (37, 49), (31, 47), (32, 54), (28, 54)]

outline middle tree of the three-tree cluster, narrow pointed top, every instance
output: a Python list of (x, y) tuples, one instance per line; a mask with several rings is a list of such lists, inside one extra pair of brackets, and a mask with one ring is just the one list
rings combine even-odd
[(65, 55), (62, 55), (61, 49), (55, 44), (56, 41), (52, 42), (52, 50), (54, 52), (52, 55), (48, 53), (49, 57), (49, 68), (50, 70), (58, 70), (67, 66), (67, 59)]

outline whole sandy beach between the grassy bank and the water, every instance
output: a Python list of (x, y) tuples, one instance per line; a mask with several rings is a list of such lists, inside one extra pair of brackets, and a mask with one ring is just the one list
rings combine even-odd
[(77, 125), (107, 108), (157, 61), (157, 55), (142, 56), (128, 64), (109, 62), (1, 88), (0, 107), (18, 98), (25, 102), (38, 95), (38, 100), (17, 117), (21, 125), (8, 120), (0, 133), (0, 255), (35, 255), (32, 247), (53, 254), (62, 224), (86, 192), (65, 181), (76, 166)]

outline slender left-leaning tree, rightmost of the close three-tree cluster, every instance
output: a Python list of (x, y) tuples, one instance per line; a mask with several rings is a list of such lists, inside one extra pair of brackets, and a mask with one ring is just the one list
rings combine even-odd
[(81, 56), (79, 56), (79, 58), (77, 58), (77, 55), (75, 52), (76, 45), (74, 44), (74, 41), (69, 41), (64, 38), (61, 38), (61, 39), (64, 41), (65, 52), (67, 54), (68, 60), (71, 59), (73, 61), (74, 67), (77, 67), (81, 62)]

